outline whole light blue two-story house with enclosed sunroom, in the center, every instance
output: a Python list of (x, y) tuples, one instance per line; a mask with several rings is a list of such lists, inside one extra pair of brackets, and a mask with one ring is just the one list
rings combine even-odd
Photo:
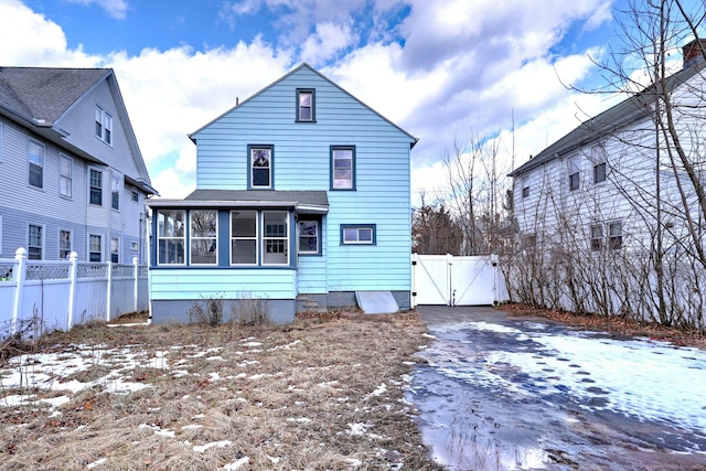
[(214, 297), (277, 322), (361, 291), (409, 309), (411, 135), (302, 64), (190, 137), (197, 190), (149, 202), (156, 322)]

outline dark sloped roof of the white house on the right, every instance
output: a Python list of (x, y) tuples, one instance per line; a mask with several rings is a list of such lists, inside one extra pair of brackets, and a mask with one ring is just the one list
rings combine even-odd
[[(682, 71), (670, 75), (666, 78), (666, 88), (674, 90), (689, 78), (694, 77), (704, 68), (704, 62), (688, 64)], [(573, 131), (544, 149), (534, 158), (520, 165), (509, 173), (509, 176), (517, 176), (535, 169), (554, 159), (558, 159), (567, 153), (574, 152), (581, 147), (610, 136), (620, 128), (643, 119), (652, 111), (654, 104), (654, 85), (650, 85), (642, 92), (632, 95), (618, 105), (608, 108), (603, 113), (584, 121)]]

